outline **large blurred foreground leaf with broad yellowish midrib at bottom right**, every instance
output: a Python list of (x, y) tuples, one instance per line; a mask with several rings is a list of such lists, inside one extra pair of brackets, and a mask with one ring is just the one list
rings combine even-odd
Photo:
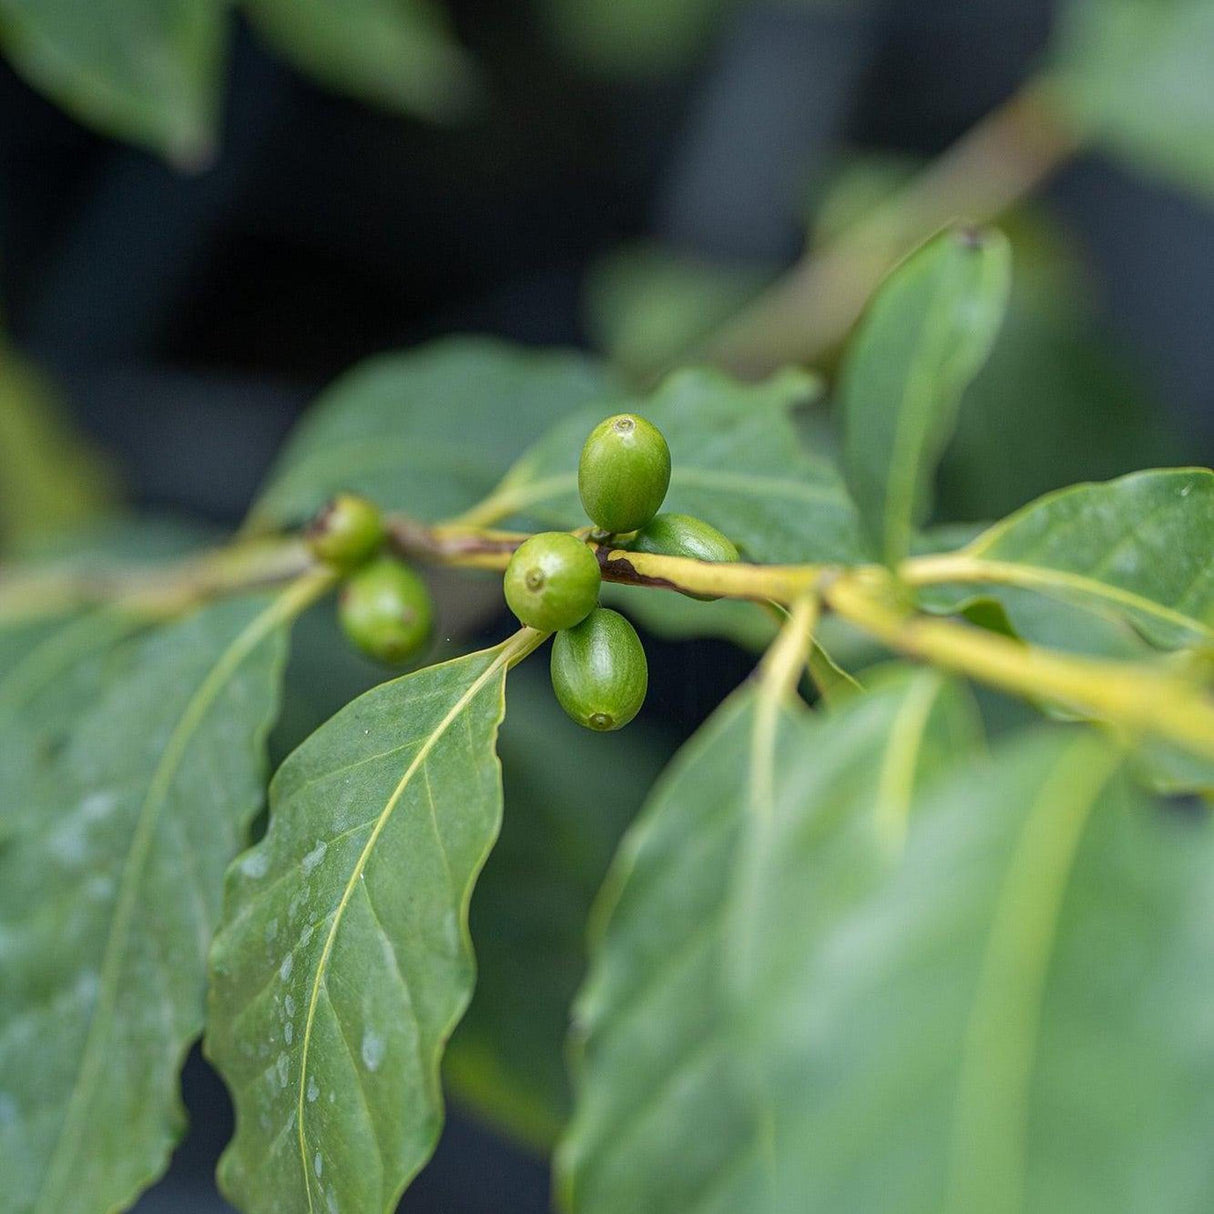
[(798, 948), (768, 901), (771, 1209), (1210, 1208), (1214, 832), (1118, 764), (1020, 737), (925, 789), (894, 878)]

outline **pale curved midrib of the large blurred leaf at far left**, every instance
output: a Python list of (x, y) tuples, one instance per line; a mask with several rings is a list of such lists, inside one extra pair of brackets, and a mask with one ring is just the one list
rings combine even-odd
[(57, 1197), (57, 1190), (62, 1189), (64, 1170), (72, 1164), (75, 1140), (80, 1134), (78, 1122), (100, 1073), (103, 1057), (103, 1034), (108, 1029), (109, 1021), (114, 1014), (114, 1003), (118, 997), (118, 980), (120, 977), (119, 971), (126, 952), (140, 879), (151, 853), (152, 840), (155, 834), (160, 811), (169, 795), (169, 789), (172, 787), (177, 767), (186, 754), (194, 731), (205, 720), (208, 711), (223, 687), (240, 668), (245, 658), (249, 657), (270, 632), (299, 609), (299, 599), (300, 588), (290, 588), (265, 611), (254, 617), (231, 645), (228, 645), (220, 660), (210, 668), (206, 677), (187, 702), (185, 711), (174, 726), (169, 742), (161, 753), (160, 761), (157, 764), (157, 768), (148, 783), (147, 794), (143, 798), (138, 817), (136, 818), (131, 847), (123, 864), (118, 900), (114, 906), (109, 934), (106, 938), (106, 949), (97, 986), (97, 1002), (93, 1005), (92, 1016), (90, 1017), (89, 1032), (81, 1051), (80, 1066), (76, 1071), (76, 1082), (68, 1097), (68, 1106), (63, 1114), (55, 1148), (46, 1164), (42, 1187), (34, 1204), (35, 1214), (41, 1210), (55, 1212), (62, 1206), (62, 1198)]

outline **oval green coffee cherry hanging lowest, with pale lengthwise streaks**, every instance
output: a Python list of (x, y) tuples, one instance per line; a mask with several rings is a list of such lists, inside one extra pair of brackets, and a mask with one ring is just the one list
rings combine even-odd
[(552, 641), (552, 690), (588, 730), (619, 730), (641, 710), (649, 686), (645, 647), (619, 612), (596, 607)]

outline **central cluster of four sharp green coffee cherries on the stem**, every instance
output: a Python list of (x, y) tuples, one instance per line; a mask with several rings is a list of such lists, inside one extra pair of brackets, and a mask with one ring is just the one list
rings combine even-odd
[[(691, 515), (658, 510), (670, 486), (670, 448), (662, 432), (632, 413), (600, 422), (582, 448), (578, 492), (590, 521), (637, 552), (736, 561), (738, 550)], [(506, 567), (510, 609), (531, 628), (556, 632), (552, 690), (574, 721), (618, 730), (640, 711), (648, 690), (645, 647), (636, 629), (599, 606), (602, 573), (594, 550), (568, 532), (524, 540)]]

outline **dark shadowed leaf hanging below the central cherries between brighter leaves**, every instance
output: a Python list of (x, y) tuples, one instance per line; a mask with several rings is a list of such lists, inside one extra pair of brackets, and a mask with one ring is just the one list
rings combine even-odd
[(568, 1114), (565, 1038), (590, 904), (669, 750), (642, 722), (574, 725), (539, 662), (510, 676), (499, 749), (505, 817), (472, 898), (476, 995), (446, 1077), (465, 1106), (546, 1152)]

